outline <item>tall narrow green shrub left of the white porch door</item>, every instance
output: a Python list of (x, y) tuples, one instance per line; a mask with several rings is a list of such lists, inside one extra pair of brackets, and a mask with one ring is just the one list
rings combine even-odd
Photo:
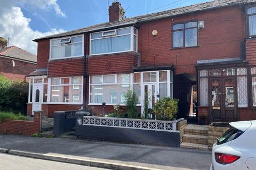
[(138, 97), (135, 94), (134, 91), (128, 90), (125, 95), (125, 105), (126, 105), (126, 111), (129, 118), (138, 118), (137, 113), (137, 103), (138, 103)]

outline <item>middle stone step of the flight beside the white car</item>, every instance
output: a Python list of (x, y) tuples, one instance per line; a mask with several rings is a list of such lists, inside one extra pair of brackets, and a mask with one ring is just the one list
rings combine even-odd
[(208, 145), (209, 137), (206, 135), (184, 134), (182, 141), (188, 143), (198, 143)]

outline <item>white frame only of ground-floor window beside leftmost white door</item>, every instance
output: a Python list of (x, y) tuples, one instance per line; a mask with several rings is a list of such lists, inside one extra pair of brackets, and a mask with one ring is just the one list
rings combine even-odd
[[(73, 77), (79, 77), (81, 78), (81, 83), (80, 84), (72, 84), (72, 78)], [(69, 84), (61, 84), (61, 78), (69, 78)], [(51, 79), (52, 78), (48, 78), (48, 95), (47, 95), (47, 104), (60, 104), (60, 105), (82, 105), (83, 104), (83, 93), (84, 93), (84, 77), (83, 76), (71, 76), (71, 77), (59, 77), (60, 82), (57, 85), (51, 85)], [(74, 86), (81, 86), (81, 102), (51, 102), (51, 87), (59, 87), (59, 86), (72, 86), (74, 88)], [(72, 98), (73, 99), (73, 98)]]

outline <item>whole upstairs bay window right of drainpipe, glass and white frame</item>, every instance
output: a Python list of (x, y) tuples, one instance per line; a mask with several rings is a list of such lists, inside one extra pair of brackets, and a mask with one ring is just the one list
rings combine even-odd
[(137, 29), (133, 27), (91, 33), (90, 54), (137, 52)]

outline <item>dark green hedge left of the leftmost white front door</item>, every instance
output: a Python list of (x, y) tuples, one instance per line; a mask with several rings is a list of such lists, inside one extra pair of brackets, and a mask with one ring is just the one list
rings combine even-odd
[(28, 83), (11, 81), (0, 75), (1, 111), (26, 114), (28, 102)]

